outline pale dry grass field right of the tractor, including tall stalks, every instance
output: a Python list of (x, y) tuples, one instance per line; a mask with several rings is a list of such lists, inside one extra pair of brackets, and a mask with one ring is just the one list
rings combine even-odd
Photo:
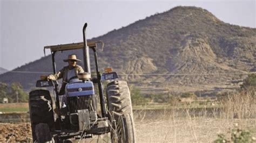
[(256, 137), (254, 91), (227, 94), (219, 104), (221, 108), (215, 109), (195, 110), (187, 104), (183, 110), (137, 112), (137, 141), (213, 142), (217, 134), (227, 134), (237, 125)]

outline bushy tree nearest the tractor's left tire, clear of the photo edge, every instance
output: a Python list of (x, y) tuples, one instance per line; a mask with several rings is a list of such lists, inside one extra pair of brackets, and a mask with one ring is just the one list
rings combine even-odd
[(9, 96), (13, 102), (28, 102), (28, 95), (23, 90), (21, 83), (14, 82), (11, 84)]

